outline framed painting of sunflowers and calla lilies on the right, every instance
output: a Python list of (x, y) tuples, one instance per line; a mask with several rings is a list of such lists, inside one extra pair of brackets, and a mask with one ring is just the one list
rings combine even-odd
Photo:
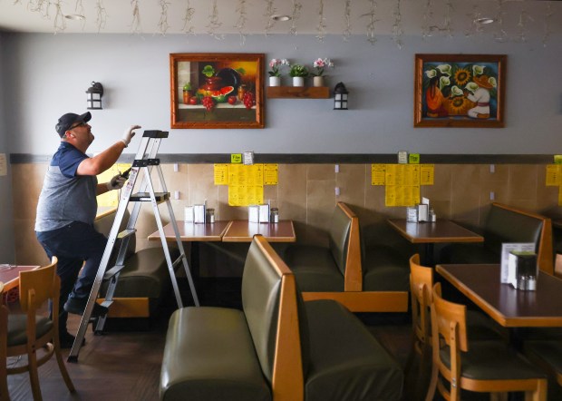
[(414, 127), (504, 127), (504, 54), (416, 54)]

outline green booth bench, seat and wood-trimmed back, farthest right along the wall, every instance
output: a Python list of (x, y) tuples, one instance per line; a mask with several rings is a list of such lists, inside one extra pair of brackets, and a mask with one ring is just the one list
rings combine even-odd
[(540, 214), (492, 203), (481, 235), (484, 242), (451, 244), (441, 249), (441, 263), (499, 263), (504, 242), (536, 244), (539, 269), (553, 274), (552, 222)]

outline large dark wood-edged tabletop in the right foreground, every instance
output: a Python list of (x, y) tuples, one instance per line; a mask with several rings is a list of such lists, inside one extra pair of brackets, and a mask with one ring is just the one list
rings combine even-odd
[(499, 264), (437, 265), (443, 279), (506, 328), (562, 327), (562, 280), (538, 272), (537, 290), (499, 281)]

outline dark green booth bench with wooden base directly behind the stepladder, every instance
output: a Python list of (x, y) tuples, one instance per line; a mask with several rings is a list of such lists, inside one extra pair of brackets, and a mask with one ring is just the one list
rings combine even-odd
[[(108, 210), (96, 217), (94, 227), (109, 236), (117, 209)], [(125, 211), (121, 221), (120, 232), (129, 221), (129, 211)], [(141, 249), (135, 251), (136, 234), (132, 235), (127, 247), (125, 267), (121, 270), (117, 287), (113, 295), (113, 304), (109, 318), (149, 318), (160, 305), (164, 297), (171, 291), (171, 280), (168, 264), (161, 248)], [(120, 240), (115, 242), (112, 258), (108, 269), (115, 264)], [(179, 252), (170, 248), (171, 259), (176, 259)], [(105, 294), (108, 282), (102, 284), (100, 297)]]

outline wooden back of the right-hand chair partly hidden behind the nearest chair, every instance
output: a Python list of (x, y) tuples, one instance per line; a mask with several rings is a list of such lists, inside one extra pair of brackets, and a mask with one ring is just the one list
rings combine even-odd
[(431, 337), (431, 291), (433, 269), (420, 264), (420, 255), (410, 258), (410, 290), (412, 293), (412, 330), (422, 344)]

